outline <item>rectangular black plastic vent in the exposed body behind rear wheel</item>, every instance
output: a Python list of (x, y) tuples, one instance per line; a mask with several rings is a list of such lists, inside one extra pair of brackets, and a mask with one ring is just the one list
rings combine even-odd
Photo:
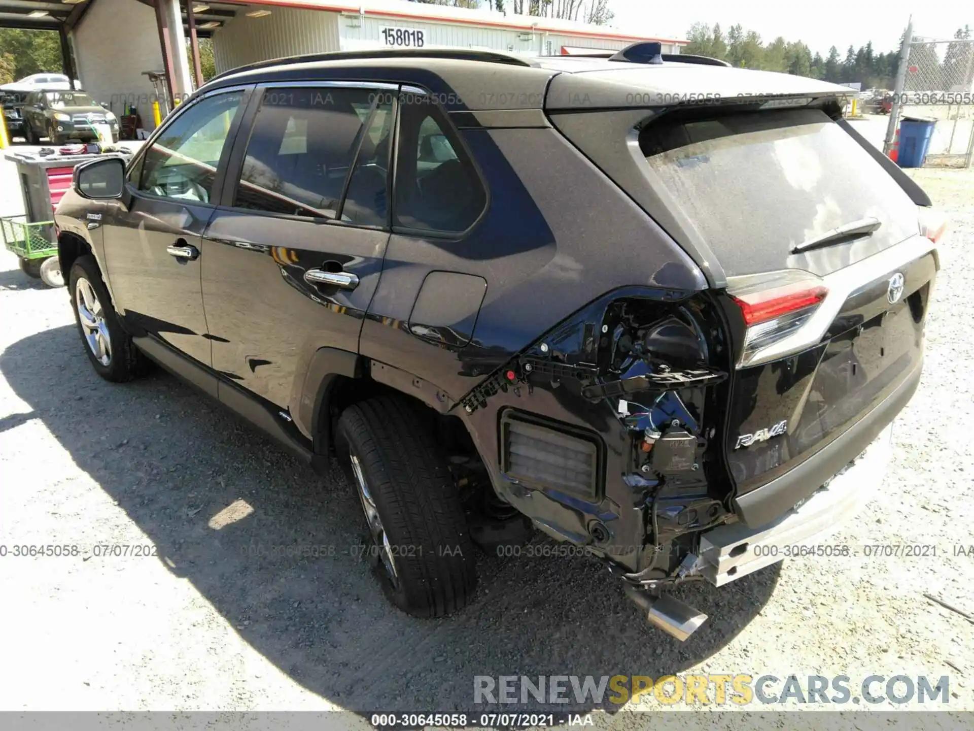
[(527, 486), (597, 497), (598, 443), (572, 431), (572, 427), (507, 412), (501, 419), (504, 473)]

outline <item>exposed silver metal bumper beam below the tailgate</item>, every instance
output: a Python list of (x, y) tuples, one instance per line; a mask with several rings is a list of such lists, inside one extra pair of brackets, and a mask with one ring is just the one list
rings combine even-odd
[(892, 453), (891, 435), (890, 424), (843, 472), (787, 515), (758, 528), (736, 522), (704, 533), (700, 572), (722, 586), (781, 560), (786, 547), (822, 543), (879, 488)]

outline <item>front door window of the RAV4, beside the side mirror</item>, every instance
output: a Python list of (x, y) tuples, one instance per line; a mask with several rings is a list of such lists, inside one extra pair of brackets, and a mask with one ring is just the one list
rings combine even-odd
[(209, 96), (176, 117), (145, 151), (138, 189), (209, 203), (220, 153), (243, 98), (243, 92)]

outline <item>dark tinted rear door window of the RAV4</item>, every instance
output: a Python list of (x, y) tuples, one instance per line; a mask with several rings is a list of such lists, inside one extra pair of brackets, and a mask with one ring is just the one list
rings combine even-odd
[[(369, 124), (365, 132), (374, 132), (379, 115), (372, 111), (381, 101), (376, 96), (367, 89), (266, 90), (247, 142), (234, 206), (335, 218), (363, 126)], [(381, 140), (381, 130), (378, 135)], [(378, 141), (367, 147), (377, 148)], [(381, 152), (363, 148), (362, 154), (374, 161)], [(364, 162), (360, 159), (356, 168), (356, 185), (373, 191), (381, 185), (385, 191), (386, 166), (365, 172)], [(385, 205), (384, 198), (380, 203)], [(385, 212), (377, 215), (385, 220)], [(362, 223), (374, 220), (357, 208), (356, 218)]]

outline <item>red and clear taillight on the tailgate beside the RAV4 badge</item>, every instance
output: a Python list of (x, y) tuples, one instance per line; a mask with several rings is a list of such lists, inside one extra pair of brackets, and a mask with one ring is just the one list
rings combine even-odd
[(805, 325), (829, 293), (820, 279), (807, 272), (778, 272), (748, 278), (745, 287), (731, 289), (747, 327), (737, 365), (779, 357), (773, 349)]

